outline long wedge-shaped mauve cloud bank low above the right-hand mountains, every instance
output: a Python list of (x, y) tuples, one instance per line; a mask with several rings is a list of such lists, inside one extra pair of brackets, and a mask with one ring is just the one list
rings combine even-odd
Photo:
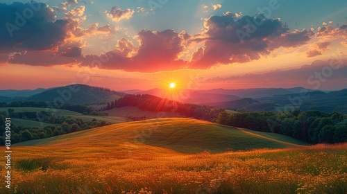
[[(324, 73), (323, 73), (324, 72)], [(317, 76), (318, 75), (318, 76)], [(325, 75), (325, 76), (324, 76)], [(327, 76), (328, 75), (328, 76)], [(321, 77), (319, 77), (321, 76)], [(314, 88), (321, 82), (319, 89), (332, 89), (346, 85), (346, 60), (316, 60), (296, 69), (274, 70), (259, 74), (230, 76), (227, 78), (214, 77), (205, 79), (205, 85), (223, 84), (226, 87), (306, 87)]]

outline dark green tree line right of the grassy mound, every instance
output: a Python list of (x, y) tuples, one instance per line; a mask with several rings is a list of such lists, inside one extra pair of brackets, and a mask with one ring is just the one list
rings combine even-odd
[(289, 112), (220, 112), (217, 123), (292, 136), (309, 143), (347, 142), (347, 114), (318, 110)]

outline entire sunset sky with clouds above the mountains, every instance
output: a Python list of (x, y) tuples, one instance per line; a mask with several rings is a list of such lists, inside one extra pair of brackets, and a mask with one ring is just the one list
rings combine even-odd
[(0, 89), (347, 85), (343, 0), (0, 0)]

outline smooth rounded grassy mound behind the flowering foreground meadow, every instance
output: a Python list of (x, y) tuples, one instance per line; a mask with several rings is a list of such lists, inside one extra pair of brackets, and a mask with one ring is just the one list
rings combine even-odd
[(146, 151), (166, 148), (176, 152), (195, 153), (204, 150), (223, 152), (228, 149), (286, 148), (297, 142), (296, 139), (291, 139), (288, 143), (280, 142), (260, 133), (252, 135), (236, 128), (189, 118), (160, 118), (108, 125), (16, 145), (113, 147), (116, 150), (143, 150), (139, 145), (149, 145)]

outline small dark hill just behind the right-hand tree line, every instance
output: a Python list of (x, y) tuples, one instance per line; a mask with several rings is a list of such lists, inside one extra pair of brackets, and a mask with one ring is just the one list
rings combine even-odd
[(205, 103), (204, 105), (237, 111), (272, 111), (276, 107), (273, 103), (260, 103), (260, 101), (253, 98), (242, 98), (219, 103)]

